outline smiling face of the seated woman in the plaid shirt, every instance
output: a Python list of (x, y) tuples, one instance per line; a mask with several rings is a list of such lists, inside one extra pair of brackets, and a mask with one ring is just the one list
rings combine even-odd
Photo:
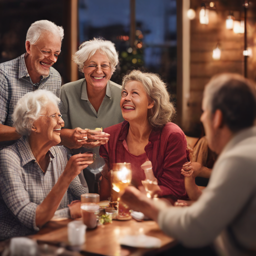
[(57, 145), (61, 141), (61, 127), (64, 126), (64, 121), (59, 117), (58, 108), (53, 103), (49, 103), (46, 108), (41, 110), (40, 115), (33, 123), (36, 133), (42, 141)]

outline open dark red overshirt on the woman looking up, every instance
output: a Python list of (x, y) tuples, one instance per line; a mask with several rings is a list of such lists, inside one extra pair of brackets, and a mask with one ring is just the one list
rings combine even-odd
[[(109, 133), (110, 137), (106, 144), (100, 146), (99, 154), (106, 160), (109, 169), (112, 168), (112, 163), (128, 162), (124, 156), (127, 149), (123, 145), (128, 130), (129, 123), (127, 121), (104, 129), (104, 132)], [(148, 137), (145, 152), (147, 158), (152, 162), (154, 176), (162, 191), (161, 196), (186, 199), (187, 194), (181, 168), (189, 160), (189, 153), (186, 150), (183, 131), (172, 122), (166, 123), (162, 128), (153, 129)], [(131, 159), (130, 162), (132, 163)]]

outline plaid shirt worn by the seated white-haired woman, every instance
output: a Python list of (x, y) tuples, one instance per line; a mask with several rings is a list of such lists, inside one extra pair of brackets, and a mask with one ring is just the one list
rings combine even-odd
[[(50, 192), (67, 163), (64, 147), (53, 146), (49, 154), (50, 162), (43, 172), (25, 136), (0, 150), (0, 239), (39, 230), (35, 225), (36, 207)], [(67, 204), (87, 192), (88, 188), (75, 177), (56, 214), (60, 211), (62, 216), (69, 216)]]

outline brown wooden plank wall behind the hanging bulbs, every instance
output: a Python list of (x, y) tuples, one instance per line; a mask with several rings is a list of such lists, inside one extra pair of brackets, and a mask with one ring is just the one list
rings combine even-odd
[[(234, 10), (236, 19), (243, 18), (243, 6), (240, 0), (230, 0), (224, 5), (215, 1), (215, 10), (209, 11), (209, 23), (199, 23), (200, 0), (190, 0), (190, 7), (196, 10), (196, 18), (190, 21), (190, 93), (187, 101), (186, 120), (183, 130), (189, 135), (199, 133), (199, 118), (204, 85), (214, 74), (235, 72), (244, 74), (244, 34), (235, 34), (225, 28), (225, 19), (229, 8)], [(226, 2), (226, 1), (225, 1)], [(232, 2), (232, 3), (231, 3)], [(248, 8), (247, 39), (253, 55), (248, 57), (248, 77), (256, 78), (256, 11), (252, 4)], [(218, 43), (221, 49), (220, 60), (212, 59), (212, 50)], [(197, 131), (197, 134), (196, 132)]]

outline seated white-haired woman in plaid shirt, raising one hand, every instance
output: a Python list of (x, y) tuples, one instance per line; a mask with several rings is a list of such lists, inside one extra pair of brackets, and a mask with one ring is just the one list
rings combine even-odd
[[(92, 154), (68, 161), (60, 142), (64, 122), (60, 99), (47, 90), (28, 92), (13, 112), (22, 135), (0, 151), (0, 239), (33, 233), (52, 217), (79, 217), (82, 193), (77, 174), (92, 163)], [(69, 206), (69, 208), (67, 207)]]

